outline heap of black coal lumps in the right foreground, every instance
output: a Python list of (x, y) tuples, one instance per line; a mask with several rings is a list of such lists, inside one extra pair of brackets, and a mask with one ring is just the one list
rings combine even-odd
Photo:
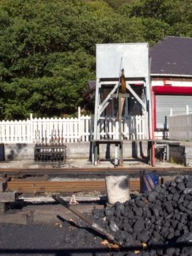
[(192, 255), (192, 176), (178, 176), (125, 203), (95, 209), (93, 217), (118, 244), (130, 248), (147, 244), (138, 256)]

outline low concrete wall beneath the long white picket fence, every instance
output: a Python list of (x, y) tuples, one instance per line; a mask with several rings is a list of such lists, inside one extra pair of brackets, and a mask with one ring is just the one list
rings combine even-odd
[[(65, 143), (68, 159), (91, 159), (92, 146), (89, 142)], [(15, 143), (4, 145), (6, 160), (34, 160), (35, 144)], [(115, 157), (115, 145), (100, 145), (100, 158)], [(147, 157), (147, 143), (126, 141), (123, 143), (123, 158)]]

